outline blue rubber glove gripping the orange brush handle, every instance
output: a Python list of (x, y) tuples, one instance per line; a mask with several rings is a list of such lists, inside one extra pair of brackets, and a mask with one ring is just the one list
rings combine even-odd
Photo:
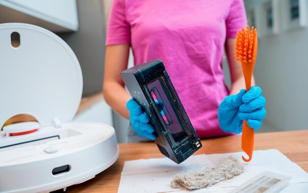
[(259, 86), (252, 86), (248, 92), (242, 89), (238, 94), (224, 98), (218, 108), (218, 122), (220, 128), (227, 133), (241, 133), (243, 120), (257, 131), (266, 115), (265, 98)]

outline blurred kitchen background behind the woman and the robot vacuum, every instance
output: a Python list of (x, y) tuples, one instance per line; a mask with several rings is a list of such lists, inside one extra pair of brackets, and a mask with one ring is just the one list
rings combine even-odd
[[(113, 112), (102, 94), (111, 4), (112, 0), (0, 0), (0, 23), (33, 24), (59, 35), (74, 51), (83, 73), (83, 99), (74, 120), (112, 125), (118, 142), (126, 142), (128, 120)], [(258, 29), (256, 84), (267, 99), (267, 117), (258, 132), (307, 129), (308, 2), (245, 0), (245, 5), (248, 24)], [(132, 55), (128, 65), (133, 65)], [(223, 69), (229, 86), (225, 58)]]

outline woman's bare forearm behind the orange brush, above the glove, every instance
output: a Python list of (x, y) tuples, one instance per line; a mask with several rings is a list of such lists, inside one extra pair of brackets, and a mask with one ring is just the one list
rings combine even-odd
[[(225, 44), (225, 50), (231, 75), (230, 95), (237, 94), (241, 89), (245, 88), (245, 80), (242, 71), (241, 62), (235, 61), (235, 38), (228, 38)], [(254, 85), (254, 77), (252, 76), (251, 85)]]

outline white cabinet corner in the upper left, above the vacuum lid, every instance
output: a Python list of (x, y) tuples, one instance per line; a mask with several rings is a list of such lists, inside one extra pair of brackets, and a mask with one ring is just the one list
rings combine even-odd
[(76, 0), (0, 0), (0, 23), (28, 23), (53, 32), (77, 31)]

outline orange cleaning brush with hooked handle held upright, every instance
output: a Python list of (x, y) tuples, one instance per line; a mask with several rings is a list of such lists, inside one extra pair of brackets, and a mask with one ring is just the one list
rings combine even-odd
[[(235, 42), (235, 60), (242, 63), (243, 74), (246, 84), (246, 92), (251, 88), (251, 78), (254, 63), (257, 57), (258, 36), (257, 29), (254, 27), (249, 30), (249, 26), (242, 28), (236, 35)], [(243, 121), (242, 130), (242, 149), (249, 156), (246, 159), (242, 156), (245, 162), (249, 162), (252, 158), (254, 130), (247, 125), (247, 121)]]

